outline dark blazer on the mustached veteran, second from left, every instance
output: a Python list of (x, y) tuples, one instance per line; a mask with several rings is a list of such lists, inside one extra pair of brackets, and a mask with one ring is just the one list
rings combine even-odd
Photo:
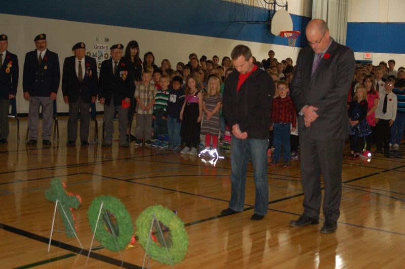
[(60, 82), (60, 67), (58, 54), (47, 52), (41, 65), (38, 64), (36, 50), (27, 52), (24, 61), (22, 87), (30, 96), (47, 97), (51, 92), (58, 93)]

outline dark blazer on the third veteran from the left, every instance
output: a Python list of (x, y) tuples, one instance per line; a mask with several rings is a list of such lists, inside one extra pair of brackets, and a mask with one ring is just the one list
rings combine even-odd
[(85, 69), (83, 81), (79, 82), (75, 66), (76, 56), (66, 57), (63, 62), (62, 93), (68, 97), (69, 102), (77, 102), (79, 96), (83, 102), (90, 103), (92, 96), (97, 97), (97, 63), (96, 59), (85, 56)]

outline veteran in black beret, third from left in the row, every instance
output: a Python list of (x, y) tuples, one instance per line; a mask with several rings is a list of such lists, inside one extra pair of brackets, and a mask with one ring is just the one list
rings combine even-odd
[(74, 146), (77, 139), (77, 115), (80, 109), (80, 144), (89, 145), (90, 104), (97, 98), (96, 59), (86, 56), (86, 44), (73, 46), (74, 56), (66, 57), (62, 71), (63, 100), (69, 104), (67, 146)]

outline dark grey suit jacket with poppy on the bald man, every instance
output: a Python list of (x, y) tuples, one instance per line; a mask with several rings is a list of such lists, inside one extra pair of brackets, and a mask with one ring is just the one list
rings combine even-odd
[(314, 52), (303, 48), (298, 54), (290, 94), (297, 111), (305, 105), (313, 105), (318, 118), (305, 127), (300, 116), (299, 135), (311, 139), (346, 139), (349, 134), (347, 96), (354, 74), (354, 54), (351, 49), (332, 41), (311, 76)]

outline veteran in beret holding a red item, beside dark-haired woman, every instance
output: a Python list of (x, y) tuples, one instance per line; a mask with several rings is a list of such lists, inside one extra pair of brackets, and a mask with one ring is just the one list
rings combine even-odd
[(103, 146), (112, 144), (115, 106), (118, 107), (119, 146), (129, 147), (126, 139), (128, 127), (128, 109), (135, 91), (134, 73), (130, 63), (123, 56), (124, 45), (111, 46), (111, 59), (101, 63), (98, 98), (104, 105), (105, 136)]

